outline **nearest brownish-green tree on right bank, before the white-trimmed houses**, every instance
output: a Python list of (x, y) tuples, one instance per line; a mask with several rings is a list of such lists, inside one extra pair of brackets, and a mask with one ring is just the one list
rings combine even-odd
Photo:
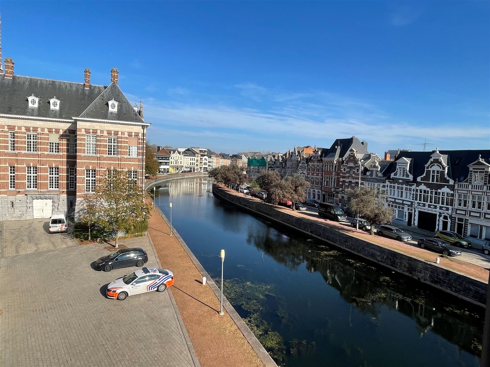
[(370, 233), (374, 234), (375, 224), (385, 224), (393, 219), (393, 211), (385, 206), (386, 194), (378, 189), (362, 187), (347, 190), (350, 208), (371, 223)]

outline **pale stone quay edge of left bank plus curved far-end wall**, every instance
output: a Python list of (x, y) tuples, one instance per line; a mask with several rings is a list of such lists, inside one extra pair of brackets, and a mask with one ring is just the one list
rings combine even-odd
[[(194, 173), (193, 174), (175, 174), (175, 175), (157, 177), (156, 179), (147, 181), (146, 185), (145, 185), (145, 189), (147, 191), (150, 191), (153, 189), (153, 187), (156, 187), (159, 184), (162, 184), (162, 183), (164, 183), (166, 181), (170, 181), (170, 180), (185, 179), (185, 178), (200, 178), (200, 177), (208, 177), (207, 172), (195, 173), (195, 174)], [(150, 198), (150, 200), (152, 200), (152, 198)], [(165, 221), (167, 226), (170, 228), (171, 227), (170, 221), (167, 219), (165, 214), (163, 214), (163, 212), (160, 210), (160, 208), (158, 206), (155, 206), (155, 210), (157, 211), (158, 215), (160, 215), (160, 217)], [(180, 246), (182, 246), (182, 248), (187, 253), (187, 255), (189, 256), (191, 261), (194, 263), (196, 269), (199, 271), (201, 276), (206, 277), (206, 283), (209, 284), (209, 288), (213, 291), (214, 295), (219, 300), (221, 297), (221, 291), (220, 291), (220, 288), (214, 282), (213, 278), (206, 272), (206, 270), (201, 265), (199, 260), (197, 260), (194, 253), (187, 246), (185, 241), (182, 239), (182, 237), (179, 235), (179, 233), (175, 230), (175, 228), (173, 228), (173, 226), (172, 226), (172, 233), (174, 235), (174, 238), (179, 242)], [(150, 237), (150, 240), (151, 240), (151, 237)], [(152, 243), (152, 246), (153, 246), (153, 243)], [(172, 298), (173, 298), (173, 296), (172, 296)], [(259, 340), (255, 336), (255, 334), (248, 328), (245, 321), (243, 321), (243, 319), (240, 317), (240, 315), (237, 313), (237, 311), (233, 308), (231, 303), (228, 301), (228, 299), (224, 295), (223, 295), (223, 309), (228, 313), (230, 318), (233, 320), (233, 322), (236, 324), (238, 329), (241, 331), (241, 333), (245, 337), (246, 342), (251, 346), (253, 351), (257, 354), (257, 356), (259, 357), (262, 364), (265, 367), (277, 367), (277, 364), (270, 357), (267, 350), (259, 342)], [(211, 330), (210, 330), (210, 333), (212, 333)], [(210, 334), (210, 335), (212, 335), (212, 334)], [(230, 360), (230, 363), (231, 363), (231, 360)]]

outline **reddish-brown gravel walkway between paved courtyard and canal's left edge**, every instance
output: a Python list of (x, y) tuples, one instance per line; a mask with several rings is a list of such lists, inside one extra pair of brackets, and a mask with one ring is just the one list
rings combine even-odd
[[(218, 314), (220, 300), (209, 283), (206, 286), (202, 285), (201, 272), (176, 236), (170, 236), (169, 226), (158, 209), (152, 211), (148, 230), (162, 266), (175, 275), (172, 294), (200, 365), (202, 367), (275, 366), (265, 350), (263, 351), (266, 364), (261, 361), (226, 310), (224, 315)], [(220, 261), (218, 256), (216, 260)], [(248, 337), (250, 340), (255, 339), (251, 332)]]

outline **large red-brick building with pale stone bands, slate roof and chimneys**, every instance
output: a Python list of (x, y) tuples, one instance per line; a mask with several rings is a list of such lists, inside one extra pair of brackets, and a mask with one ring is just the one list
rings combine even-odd
[(0, 220), (74, 214), (108, 170), (144, 186), (150, 124), (116, 68), (109, 86), (91, 85), (89, 69), (84, 83), (15, 75), (11, 58), (4, 70), (0, 48)]

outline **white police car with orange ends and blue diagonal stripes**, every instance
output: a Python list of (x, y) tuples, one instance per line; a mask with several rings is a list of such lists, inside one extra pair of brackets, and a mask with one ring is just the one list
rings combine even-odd
[(107, 297), (123, 301), (128, 296), (157, 291), (163, 292), (173, 285), (173, 273), (170, 270), (142, 268), (109, 283)]

